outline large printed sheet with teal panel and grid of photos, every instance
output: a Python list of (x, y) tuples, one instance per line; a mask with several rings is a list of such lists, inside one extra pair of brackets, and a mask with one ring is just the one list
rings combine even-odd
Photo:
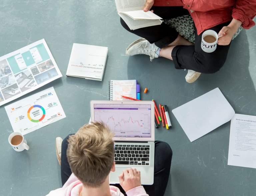
[(60, 77), (44, 39), (6, 54), (0, 57), (0, 106)]

